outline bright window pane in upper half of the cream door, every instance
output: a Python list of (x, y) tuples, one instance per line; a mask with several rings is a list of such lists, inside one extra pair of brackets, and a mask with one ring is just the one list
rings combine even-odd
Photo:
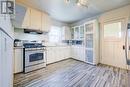
[(105, 24), (104, 25), (104, 37), (114, 37), (120, 38), (121, 37), (121, 22)]

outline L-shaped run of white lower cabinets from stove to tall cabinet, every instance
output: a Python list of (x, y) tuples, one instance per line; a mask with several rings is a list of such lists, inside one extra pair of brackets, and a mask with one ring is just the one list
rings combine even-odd
[(59, 46), (47, 47), (47, 64), (54, 63), (67, 58), (85, 61), (84, 46)]

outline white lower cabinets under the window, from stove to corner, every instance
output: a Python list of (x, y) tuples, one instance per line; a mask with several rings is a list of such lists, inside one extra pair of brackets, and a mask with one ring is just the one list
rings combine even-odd
[(70, 47), (47, 47), (47, 64), (70, 58)]

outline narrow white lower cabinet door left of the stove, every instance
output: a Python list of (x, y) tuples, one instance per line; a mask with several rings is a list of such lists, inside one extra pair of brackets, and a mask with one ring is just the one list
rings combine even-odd
[(23, 49), (14, 50), (14, 73), (23, 71)]

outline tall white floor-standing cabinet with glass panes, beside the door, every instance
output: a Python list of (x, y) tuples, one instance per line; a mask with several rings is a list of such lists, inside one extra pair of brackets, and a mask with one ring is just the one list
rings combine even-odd
[(97, 20), (85, 23), (85, 61), (94, 65), (99, 62), (99, 27)]

